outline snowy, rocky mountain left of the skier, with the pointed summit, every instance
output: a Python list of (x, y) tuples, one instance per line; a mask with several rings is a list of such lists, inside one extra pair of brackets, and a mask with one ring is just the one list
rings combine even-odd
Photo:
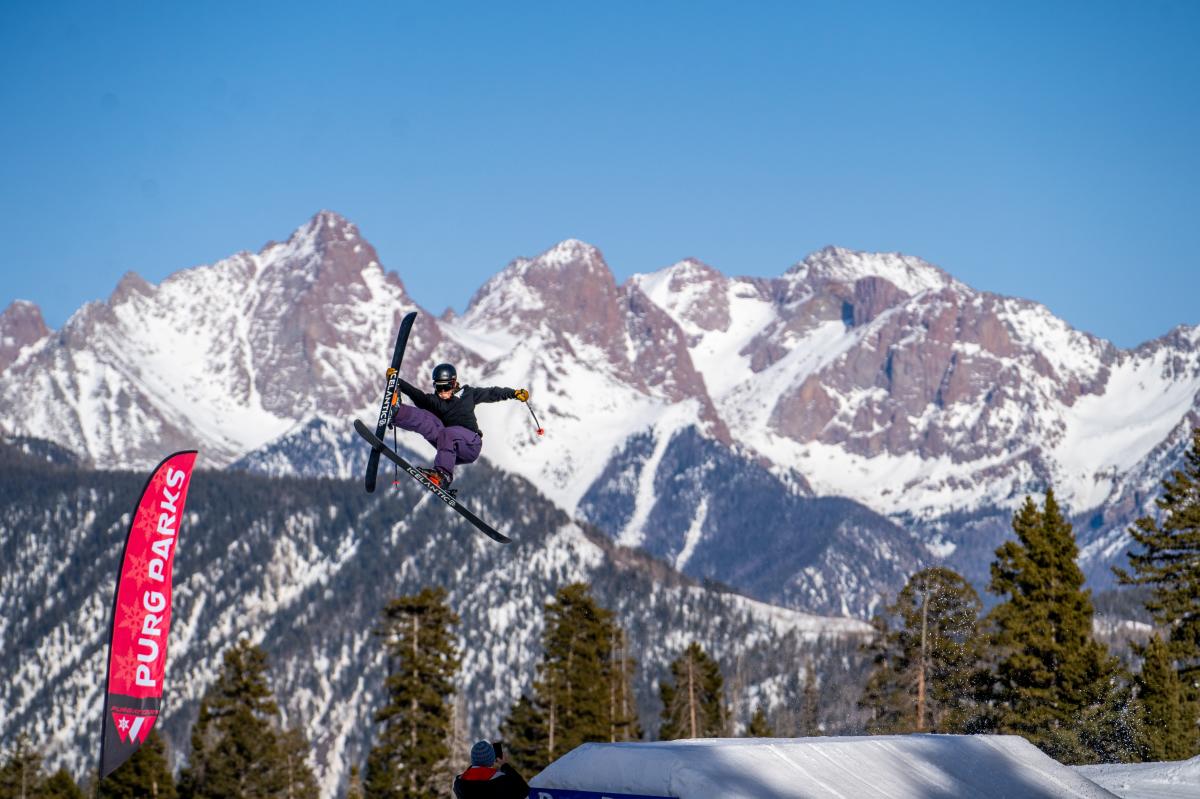
[[(413, 305), (354, 226), (322, 212), (284, 244), (157, 287), (126, 275), (4, 372), (0, 423), (110, 467), (186, 445), (226, 463), (308, 413), (360, 408)], [(436, 343), (422, 329), (413, 348)]]

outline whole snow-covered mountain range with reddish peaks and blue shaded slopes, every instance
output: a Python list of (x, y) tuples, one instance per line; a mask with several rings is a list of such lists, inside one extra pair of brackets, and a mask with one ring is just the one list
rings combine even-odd
[[(374, 417), (415, 307), (323, 211), (160, 286), (127, 275), (59, 331), (11, 306), (0, 428), (103, 468), (186, 445), (210, 465), (354, 474), (347, 420)], [(440, 360), (466, 383), (530, 388), (546, 437), (517, 403), (491, 405), (484, 456), (568, 513), (824, 611), (866, 613), (923, 561), (982, 578), (1012, 507), (1048, 486), (1103, 582), (1200, 420), (1200, 328), (1122, 350), (918, 258), (834, 247), (773, 280), (689, 259), (618, 284), (600, 251), (563, 241), (514, 260), (462, 316), (422, 313), (404, 373), (425, 383)], [(805, 524), (797, 503), (827, 497), (852, 501)], [(763, 551), (785, 561), (736, 563)]]

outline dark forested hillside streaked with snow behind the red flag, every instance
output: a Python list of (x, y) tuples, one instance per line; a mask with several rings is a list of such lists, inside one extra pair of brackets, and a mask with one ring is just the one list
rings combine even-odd
[[(694, 639), (728, 673), (737, 667), (746, 717), (745, 697), (785, 702), (778, 686), (796, 681), (809, 657), (822, 679), (863, 666), (860, 621), (697, 585), (574, 524), (528, 482), (486, 464), (462, 483), (479, 512), (505, 519), (515, 543), (487, 541), (408, 485), (368, 495), (359, 480), (197, 473), (175, 563), (164, 704), (176, 755), (221, 651), (248, 636), (268, 649), (287, 719), (307, 731), (323, 795), (334, 795), (372, 735), (384, 679), (378, 614), (391, 596), (427, 584), (446, 587), (462, 617), (460, 685), (474, 737), (493, 735), (528, 690), (544, 603), (574, 581), (589, 583), (628, 630), (649, 729), (656, 680)], [(138, 474), (0, 450), (0, 735), (28, 731), (77, 774), (92, 763), (112, 579), (142, 485)]]

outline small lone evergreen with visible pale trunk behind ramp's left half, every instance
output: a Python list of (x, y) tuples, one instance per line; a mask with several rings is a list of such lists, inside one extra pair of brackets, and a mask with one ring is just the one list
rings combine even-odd
[(696, 642), (671, 663), (662, 698), (660, 740), (719, 738), (726, 734), (725, 678), (716, 661)]

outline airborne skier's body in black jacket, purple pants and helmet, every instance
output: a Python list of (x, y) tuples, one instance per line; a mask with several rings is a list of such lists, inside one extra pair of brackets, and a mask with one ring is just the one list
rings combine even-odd
[(433, 468), (420, 471), (442, 489), (448, 489), (454, 481), (454, 468), (460, 463), (474, 463), (484, 446), (475, 405), (529, 400), (524, 389), (461, 386), (458, 372), (451, 364), (433, 367), (433, 394), (425, 394), (403, 378), (397, 378), (397, 385), (413, 404), (402, 404), (397, 394), (388, 426), (413, 431), (437, 449)]

